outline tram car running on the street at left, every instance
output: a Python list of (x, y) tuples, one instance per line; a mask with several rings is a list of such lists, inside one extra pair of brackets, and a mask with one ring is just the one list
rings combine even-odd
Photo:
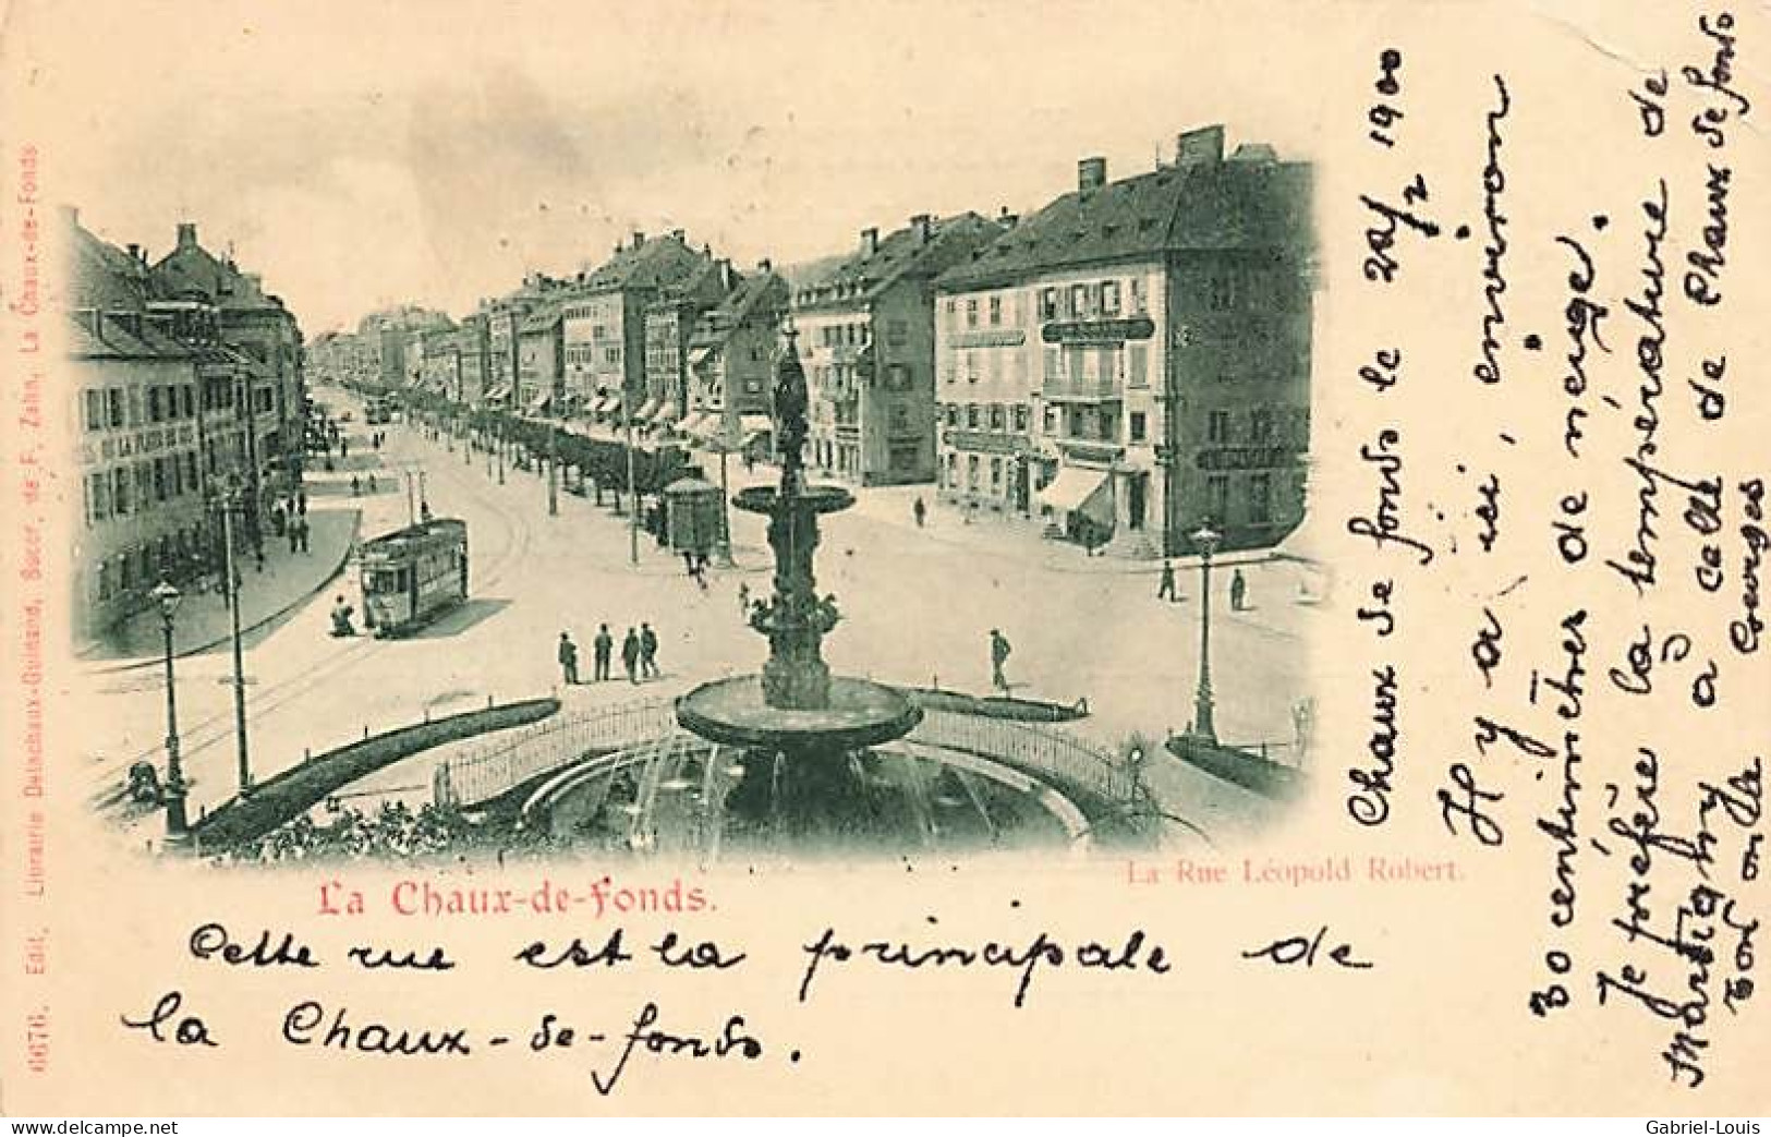
[(361, 547), (363, 620), (404, 636), (468, 599), (468, 522), (421, 521)]

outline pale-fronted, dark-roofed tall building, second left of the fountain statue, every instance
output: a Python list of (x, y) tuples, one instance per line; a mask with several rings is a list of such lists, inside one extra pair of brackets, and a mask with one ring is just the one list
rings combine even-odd
[(563, 383), (574, 406), (611, 423), (655, 416), (661, 400), (646, 398), (646, 308), (710, 260), (682, 230), (650, 241), (636, 232), (560, 296)]

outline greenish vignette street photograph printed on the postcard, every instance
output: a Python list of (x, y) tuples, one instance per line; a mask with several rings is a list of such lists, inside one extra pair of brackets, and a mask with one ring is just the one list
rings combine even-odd
[(119, 855), (1087, 857), (1309, 793), (1309, 135), (746, 43), (285, 51), (67, 174)]

